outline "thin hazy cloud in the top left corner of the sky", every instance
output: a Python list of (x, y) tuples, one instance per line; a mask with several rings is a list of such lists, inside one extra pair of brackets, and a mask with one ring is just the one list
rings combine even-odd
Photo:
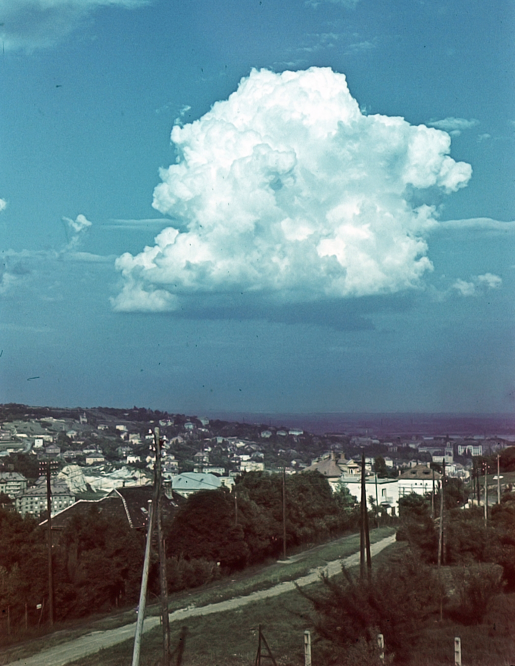
[(100, 7), (133, 9), (150, 0), (0, 0), (0, 40), (7, 50), (54, 46)]

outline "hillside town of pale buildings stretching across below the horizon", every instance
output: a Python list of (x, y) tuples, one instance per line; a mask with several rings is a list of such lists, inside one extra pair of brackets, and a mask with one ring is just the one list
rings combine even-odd
[[(186, 498), (200, 490), (232, 488), (238, 474), (265, 471), (265, 454), (269, 455), (272, 450), (278, 459), (289, 461), (285, 468), (287, 474), (317, 471), (327, 479), (333, 490), (347, 488), (355, 498), (361, 496), (361, 454), (347, 460), (341, 451), (332, 450), (307, 465), (301, 460), (301, 455), (289, 447), (302, 450), (306, 438), (310, 442), (320, 440), (299, 428), (261, 426), (251, 435), (256, 440), (252, 441), (216, 434), (207, 418), (184, 418), (179, 424), (176, 420), (164, 419), (156, 425), (160, 426), (164, 442), (162, 476), (170, 501)], [(60, 436), (60, 433), (66, 437)], [(327, 437), (330, 439), (330, 436)], [(108, 441), (111, 444), (106, 460), (101, 442)], [(353, 450), (373, 450), (379, 444), (387, 447), (383, 450), (387, 450), (388, 454), (382, 458), (390, 472), (389, 478), (378, 478), (373, 473), (375, 458), (366, 456), (365, 490), (372, 504), (383, 507), (392, 515), (399, 511), (399, 498), (412, 492), (423, 495), (432, 490), (433, 484), (438, 485), (440, 474), (430, 469), (429, 459), (434, 463), (444, 463), (447, 476), (467, 480), (472, 457), (491, 454), (513, 444), (506, 438), (486, 436), (469, 439), (457, 436), (411, 437), (384, 442), (365, 434), (347, 436), (345, 441)], [(58, 458), (64, 463), (61, 472), (51, 480), (52, 515), (69, 511), (70, 507), (84, 501), (117, 498), (119, 503), (120, 497), (116, 492), (119, 494), (123, 490), (136, 496), (136, 491), (131, 488), (149, 488), (155, 462), (153, 444), (154, 434), (148, 429), (148, 423), (143, 427), (130, 420), (100, 421), (92, 426), (88, 424), (86, 414), (79, 414), (79, 419), (75, 421), (47, 417), (0, 426), (0, 461), (1, 456), (29, 453), (36, 459)], [(184, 466), (182, 458), (179, 460), (176, 457), (181, 448), (191, 450), (188, 466)], [(406, 450), (409, 456), (405, 455)], [(461, 457), (460, 462), (455, 460), (456, 456)], [(271, 459), (268, 457), (267, 460)], [(223, 464), (220, 464), (221, 461)], [(184, 471), (185, 468), (192, 471)], [(19, 472), (0, 472), (0, 492), (9, 496), (15, 509), (23, 515), (30, 513), (37, 517), (47, 510), (44, 478), (30, 484)], [(102, 497), (100, 500), (80, 499), (85, 492), (95, 492)]]

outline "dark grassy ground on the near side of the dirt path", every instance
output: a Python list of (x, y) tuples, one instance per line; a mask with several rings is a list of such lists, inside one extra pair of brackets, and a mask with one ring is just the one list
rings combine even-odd
[[(407, 545), (394, 543), (374, 559), (374, 567), (387, 563)], [(315, 584), (320, 585), (320, 583)], [(315, 586), (312, 586), (313, 589)], [(250, 666), (256, 659), (258, 627), (279, 666), (303, 666), (303, 632), (313, 629), (311, 604), (298, 592), (252, 603), (237, 611), (190, 618), (171, 626), (171, 645), (182, 643), (182, 660), (174, 666)], [(421, 642), (405, 666), (446, 666), (454, 663), (454, 637), (462, 641), (464, 666), (510, 666), (515, 663), (515, 595), (498, 595), (482, 625), (464, 627), (449, 621), (430, 621), (421, 627)], [(157, 666), (162, 655), (162, 633), (144, 635), (140, 666)], [(313, 633), (313, 666), (324, 666), (320, 644)], [(73, 666), (130, 666), (132, 641), (75, 661)], [(265, 661), (265, 663), (271, 663)]]

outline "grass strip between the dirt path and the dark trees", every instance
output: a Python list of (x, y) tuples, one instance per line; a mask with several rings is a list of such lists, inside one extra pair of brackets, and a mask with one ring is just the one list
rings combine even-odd
[[(371, 543), (393, 534), (395, 528), (381, 527), (371, 530)], [(323, 566), (339, 557), (347, 557), (359, 550), (359, 534), (340, 537), (336, 541), (317, 545), (307, 551), (293, 555), (291, 563), (260, 564), (238, 571), (231, 578), (225, 578), (209, 585), (192, 590), (182, 590), (170, 595), (168, 607), (170, 612), (195, 605), (197, 607), (224, 601), (232, 597), (244, 596), (253, 591), (268, 589), (273, 585), (296, 579), (309, 572), (310, 569)], [(146, 607), (146, 616), (159, 615), (159, 604)], [(53, 631), (49, 627), (29, 627), (27, 631), (13, 628), (11, 635), (0, 637), (0, 666), (23, 657), (29, 657), (39, 651), (55, 645), (66, 643), (91, 631), (116, 629), (136, 621), (134, 608), (130, 607), (116, 614), (106, 613), (94, 617), (78, 618), (55, 623)]]

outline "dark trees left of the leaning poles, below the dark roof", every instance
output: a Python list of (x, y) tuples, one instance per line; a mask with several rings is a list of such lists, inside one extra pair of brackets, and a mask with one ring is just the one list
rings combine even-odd
[[(13, 623), (48, 602), (45, 529), (32, 517), (0, 509), (0, 605), (11, 607)], [(144, 536), (125, 523), (92, 510), (53, 535), (55, 619), (105, 611), (138, 598)]]

